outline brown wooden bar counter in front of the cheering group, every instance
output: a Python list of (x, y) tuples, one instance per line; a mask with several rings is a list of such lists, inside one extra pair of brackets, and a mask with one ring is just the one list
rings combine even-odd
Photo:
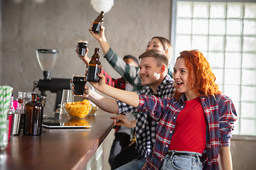
[(13, 136), (0, 151), (0, 169), (84, 169), (114, 127), (110, 116), (100, 109), (87, 116), (90, 130), (43, 128), (40, 136)]

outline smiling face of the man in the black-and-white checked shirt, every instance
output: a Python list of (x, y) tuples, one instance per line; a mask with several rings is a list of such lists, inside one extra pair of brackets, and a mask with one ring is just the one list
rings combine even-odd
[(154, 57), (144, 57), (139, 63), (139, 77), (142, 79), (142, 86), (159, 84), (161, 65), (158, 66)]

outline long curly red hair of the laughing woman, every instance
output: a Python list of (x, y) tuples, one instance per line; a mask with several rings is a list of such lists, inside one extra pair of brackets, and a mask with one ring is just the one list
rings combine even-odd
[[(196, 91), (199, 96), (209, 96), (220, 94), (218, 85), (215, 83), (215, 75), (210, 69), (210, 64), (198, 50), (183, 51), (177, 58), (185, 60), (186, 69), (188, 69), (188, 82), (191, 83), (191, 89)], [(182, 94), (174, 92), (174, 97), (178, 100)]]

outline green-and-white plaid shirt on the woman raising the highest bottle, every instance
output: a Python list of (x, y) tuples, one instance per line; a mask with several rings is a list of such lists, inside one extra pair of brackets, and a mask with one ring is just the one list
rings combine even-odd
[[(133, 91), (137, 94), (142, 90), (142, 80), (139, 78), (139, 67), (129, 66), (110, 47), (104, 56), (107, 62), (117, 71), (122, 78), (134, 86)], [(168, 67), (168, 74), (172, 77), (171, 67)]]

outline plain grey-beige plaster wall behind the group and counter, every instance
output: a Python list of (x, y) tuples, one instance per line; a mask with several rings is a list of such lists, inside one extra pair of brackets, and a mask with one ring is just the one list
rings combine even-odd
[[(58, 50), (59, 59), (50, 77), (71, 79), (73, 74), (85, 72), (85, 64), (75, 53), (78, 40), (88, 41), (89, 56), (95, 47), (100, 47), (88, 30), (99, 14), (92, 8), (90, 0), (46, 0), (43, 4), (33, 0), (19, 1), (18, 4), (14, 0), (1, 3), (1, 84), (14, 87), (14, 98), (18, 91), (31, 91), (33, 81), (43, 79), (36, 59), (37, 49)], [(120, 57), (127, 54), (139, 56), (153, 36), (169, 38), (170, 8), (168, 0), (115, 0), (104, 19), (105, 35), (112, 49)], [(103, 53), (100, 54), (103, 69), (119, 78), (103, 59)], [(50, 91), (46, 94), (44, 113), (50, 114), (55, 94)]]

